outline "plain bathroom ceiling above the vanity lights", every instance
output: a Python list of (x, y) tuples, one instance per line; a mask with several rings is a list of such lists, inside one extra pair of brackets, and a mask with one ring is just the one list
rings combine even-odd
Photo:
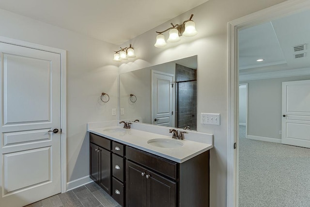
[(1, 0), (0, 8), (121, 45), (206, 1)]

